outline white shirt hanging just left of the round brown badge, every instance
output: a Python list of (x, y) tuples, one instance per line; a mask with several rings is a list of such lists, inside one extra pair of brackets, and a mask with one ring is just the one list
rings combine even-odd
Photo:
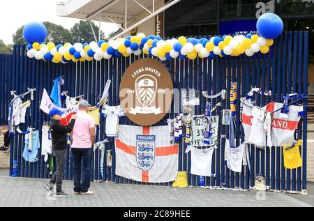
[(118, 136), (119, 116), (124, 116), (123, 109), (120, 106), (103, 106), (101, 114), (106, 118), (105, 132), (107, 137)]

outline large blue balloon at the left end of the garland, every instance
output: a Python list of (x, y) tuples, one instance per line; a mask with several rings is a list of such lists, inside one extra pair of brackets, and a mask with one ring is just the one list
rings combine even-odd
[(23, 28), (23, 37), (29, 44), (45, 42), (47, 29), (40, 22), (31, 22)]

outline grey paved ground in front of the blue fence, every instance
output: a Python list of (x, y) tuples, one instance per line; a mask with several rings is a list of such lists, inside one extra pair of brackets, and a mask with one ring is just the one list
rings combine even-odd
[[(1, 176), (4, 175), (4, 176)], [(92, 183), (95, 195), (73, 195), (72, 181), (64, 181), (68, 198), (50, 197), (43, 188), (47, 180), (12, 178), (0, 173), (2, 206), (314, 206), (313, 192), (308, 196), (274, 192), (246, 192), (177, 188), (153, 185)], [(314, 190), (313, 185), (311, 191)]]

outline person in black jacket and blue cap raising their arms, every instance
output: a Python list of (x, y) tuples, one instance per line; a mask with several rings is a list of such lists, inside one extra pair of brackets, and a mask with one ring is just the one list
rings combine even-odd
[(54, 154), (57, 162), (57, 170), (52, 176), (50, 183), (45, 184), (45, 188), (50, 194), (54, 195), (52, 189), (56, 185), (56, 194), (55, 197), (68, 197), (62, 190), (62, 181), (64, 176), (64, 169), (66, 164), (66, 145), (68, 143), (68, 132), (72, 132), (75, 120), (77, 119), (76, 115), (72, 115), (70, 123), (65, 126), (62, 125), (61, 121), (62, 111), (56, 108), (52, 108), (49, 112), (51, 117), (51, 138), (52, 138), (52, 153)]

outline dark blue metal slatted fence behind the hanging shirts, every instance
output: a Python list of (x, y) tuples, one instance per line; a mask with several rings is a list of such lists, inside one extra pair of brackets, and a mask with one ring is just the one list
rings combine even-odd
[[(196, 36), (197, 38), (201, 36)], [(206, 37), (206, 36), (205, 36)], [(208, 37), (208, 36), (207, 36)], [(69, 91), (70, 96), (84, 94), (84, 98), (93, 105), (101, 96), (105, 82), (112, 79), (110, 88), (109, 105), (119, 105), (119, 84), (121, 76), (130, 63), (147, 57), (147, 55), (121, 57), (103, 61), (86, 61), (84, 63), (54, 64), (51, 62), (28, 59), (25, 45), (14, 45), (13, 56), (0, 55), (1, 63), (1, 124), (7, 124), (8, 102), (10, 102), (10, 90), (16, 90), (17, 94), (27, 91), (27, 87), (36, 87), (37, 91), (31, 105), (31, 116), (27, 116), (27, 123), (20, 126), (22, 130), (27, 126), (40, 130), (45, 121), (49, 121), (47, 114), (39, 109), (43, 89), (51, 91), (52, 81), (64, 75), (64, 90)], [(257, 96), (257, 105), (264, 106), (267, 102), (275, 100), (283, 102), (281, 96), (287, 93), (307, 94), (308, 79), (308, 31), (285, 32), (275, 40), (269, 54), (257, 54), (253, 57), (238, 56), (209, 59), (172, 59), (165, 61), (174, 76), (174, 86), (177, 89), (196, 89), (216, 94), (222, 89), (230, 91), (230, 82), (237, 82), (237, 116), (236, 138), (237, 145), (244, 141), (244, 131), (239, 117), (239, 98), (244, 97), (251, 86), (262, 88), (263, 91), (271, 90), (271, 98)], [(196, 107), (196, 114), (204, 113), (205, 99), (201, 98), (201, 105)], [(214, 104), (215, 105), (215, 104)], [(304, 101), (306, 112), (306, 100)], [(174, 118), (172, 113), (170, 117)], [(230, 98), (222, 101), (222, 107), (216, 109), (216, 114), (221, 115), (223, 109), (230, 109)], [(168, 117), (168, 116), (167, 116)], [(131, 124), (128, 119), (120, 123)], [(165, 124), (165, 121), (159, 123)], [(225, 125), (221, 125), (220, 135), (227, 132)], [(96, 139), (105, 139), (105, 119), (100, 118), (100, 126), (97, 130)], [(224, 163), (224, 141), (221, 137), (218, 148), (214, 152), (212, 162), (212, 174), (207, 177), (205, 185), (213, 187), (249, 189), (254, 185), (255, 176), (261, 174), (266, 178), (266, 185), (271, 190), (306, 190), (306, 116), (302, 117), (297, 130), (297, 138), (303, 139), (300, 148), (303, 166), (298, 169), (285, 169), (283, 167), (283, 151), (281, 147), (267, 147), (265, 150), (255, 148), (251, 151), (251, 172), (247, 166), (242, 168), (242, 173), (230, 171)], [(49, 178), (43, 156), (38, 152), (38, 162), (27, 162), (22, 158), (24, 148), (24, 136), (15, 135), (11, 143), (10, 173), (12, 172), (13, 160), (18, 161), (18, 176)], [(92, 180), (98, 180), (103, 175), (104, 180), (117, 183), (140, 183), (116, 176), (114, 144), (106, 144), (105, 151), (112, 149), (112, 167), (106, 165), (106, 155), (100, 174), (100, 151), (96, 150), (93, 160)], [(188, 184), (199, 185), (199, 177), (190, 174), (190, 153), (184, 153), (186, 146), (179, 145), (179, 171), (188, 171)], [(69, 151), (68, 151), (69, 152)], [(66, 179), (72, 179), (72, 158), (68, 153), (66, 158)], [(144, 183), (142, 183), (144, 184)], [(171, 185), (172, 183), (156, 183), (155, 185)]]

